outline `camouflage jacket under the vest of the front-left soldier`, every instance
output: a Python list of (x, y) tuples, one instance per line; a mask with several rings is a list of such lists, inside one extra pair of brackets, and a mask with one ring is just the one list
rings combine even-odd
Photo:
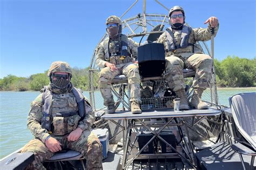
[[(43, 93), (38, 95), (36, 99), (31, 103), (27, 126), (28, 126), (28, 129), (30, 129), (33, 136), (45, 142), (45, 139), (48, 136), (50, 136), (50, 134), (46, 129), (43, 129), (41, 126), (42, 117), (43, 117), (42, 97), (43, 97)], [(94, 112), (92, 111), (90, 105), (86, 102), (86, 100), (84, 102), (85, 102), (85, 117), (78, 124), (78, 127), (83, 131), (90, 129), (92, 123), (95, 121)]]

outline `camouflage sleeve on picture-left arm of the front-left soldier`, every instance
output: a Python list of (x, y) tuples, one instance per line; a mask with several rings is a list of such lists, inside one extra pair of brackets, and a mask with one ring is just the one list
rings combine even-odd
[(33, 136), (41, 139), (44, 143), (45, 139), (50, 136), (50, 134), (46, 129), (43, 129), (41, 126), (43, 113), (42, 95), (43, 94), (38, 95), (37, 98), (31, 103), (27, 126)]

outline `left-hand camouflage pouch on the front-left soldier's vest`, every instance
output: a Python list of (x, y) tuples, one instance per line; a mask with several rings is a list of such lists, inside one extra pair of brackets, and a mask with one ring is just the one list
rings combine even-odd
[(64, 135), (68, 133), (69, 117), (53, 117), (54, 134)]

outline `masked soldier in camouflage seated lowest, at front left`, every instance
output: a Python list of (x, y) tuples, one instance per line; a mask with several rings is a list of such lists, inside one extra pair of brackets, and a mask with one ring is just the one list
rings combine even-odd
[(32, 102), (28, 128), (34, 139), (22, 148), (33, 152), (35, 161), (28, 169), (46, 169), (43, 162), (58, 151), (71, 149), (83, 154), (87, 169), (102, 169), (102, 145), (91, 133), (95, 121), (89, 102), (70, 82), (71, 68), (63, 61), (53, 62), (50, 85)]

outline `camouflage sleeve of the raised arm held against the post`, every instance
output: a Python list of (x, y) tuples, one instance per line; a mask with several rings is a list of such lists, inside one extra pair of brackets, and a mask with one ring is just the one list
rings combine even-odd
[[(219, 30), (219, 24), (214, 28), (214, 37)], [(197, 28), (192, 30), (195, 41), (208, 41), (211, 39), (211, 26), (208, 25), (207, 29)]]

